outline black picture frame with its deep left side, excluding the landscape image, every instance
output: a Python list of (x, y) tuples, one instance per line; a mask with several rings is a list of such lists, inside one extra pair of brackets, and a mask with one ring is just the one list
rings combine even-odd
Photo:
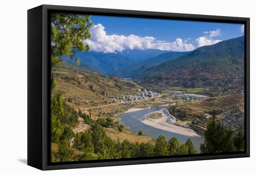
[[(149, 19), (175, 19), (244, 24), (245, 40), (245, 150), (243, 152), (159, 156), (86, 162), (50, 162), (50, 14), (64, 12)], [(88, 8), (75, 6), (41, 5), (27, 11), (27, 164), (41, 170), (73, 169), (144, 163), (180, 162), (223, 158), (249, 157), (249, 18), (145, 12)]]

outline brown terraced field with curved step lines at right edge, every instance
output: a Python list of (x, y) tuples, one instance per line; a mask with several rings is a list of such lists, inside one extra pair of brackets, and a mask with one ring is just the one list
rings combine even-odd
[(209, 98), (207, 100), (194, 100), (189, 103), (183, 104), (184, 107), (189, 108), (191, 112), (202, 113), (206, 111), (229, 111), (236, 105), (241, 105), (243, 102), (244, 94), (229, 94), (226, 96)]

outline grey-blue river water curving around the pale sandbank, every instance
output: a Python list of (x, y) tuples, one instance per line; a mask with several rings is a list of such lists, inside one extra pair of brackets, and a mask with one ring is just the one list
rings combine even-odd
[(181, 134), (157, 129), (141, 122), (141, 120), (145, 119), (146, 114), (159, 110), (161, 110), (161, 108), (145, 108), (139, 111), (123, 113), (119, 115), (120, 123), (128, 126), (132, 131), (139, 132), (141, 130), (143, 131), (143, 135), (147, 135), (149, 137), (157, 138), (159, 135), (163, 135), (167, 140), (169, 140), (171, 137), (175, 136), (178, 138), (180, 144), (184, 144), (187, 139), (190, 138), (195, 146), (195, 149), (200, 152), (200, 144), (204, 142), (202, 137), (184, 136)]

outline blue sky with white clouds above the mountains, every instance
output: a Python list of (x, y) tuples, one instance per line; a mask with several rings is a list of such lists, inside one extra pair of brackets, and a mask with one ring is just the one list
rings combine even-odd
[(126, 49), (194, 50), (203, 45), (243, 35), (241, 24), (91, 16), (91, 50)]

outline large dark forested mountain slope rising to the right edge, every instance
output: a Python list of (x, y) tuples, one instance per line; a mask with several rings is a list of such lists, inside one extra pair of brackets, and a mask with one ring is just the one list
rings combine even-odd
[(244, 82), (244, 37), (200, 47), (157, 66), (151, 67), (135, 80), (143, 84), (193, 87), (227, 87)]

